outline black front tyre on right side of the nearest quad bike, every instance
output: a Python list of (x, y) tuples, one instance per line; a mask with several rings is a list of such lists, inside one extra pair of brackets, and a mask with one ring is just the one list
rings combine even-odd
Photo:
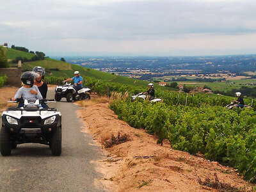
[(61, 155), (61, 127), (56, 127), (56, 130), (52, 132), (52, 139), (49, 147), (52, 150), (52, 156)]

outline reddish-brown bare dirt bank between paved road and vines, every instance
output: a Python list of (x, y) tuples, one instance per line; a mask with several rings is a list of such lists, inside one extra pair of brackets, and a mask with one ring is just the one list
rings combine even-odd
[(129, 135), (129, 141), (104, 148), (108, 158), (98, 162), (98, 171), (105, 174), (102, 182), (113, 191), (218, 191), (200, 184), (205, 179), (211, 179), (208, 186), (217, 179), (230, 190), (252, 189), (233, 168), (205, 160), (200, 154), (195, 157), (172, 150), (168, 141), (163, 147), (157, 145), (154, 136), (118, 120), (109, 102), (96, 96), (80, 102), (84, 108), (79, 117), (84, 121), (84, 132), (90, 132), (102, 148), (102, 143), (111, 141), (111, 134)]

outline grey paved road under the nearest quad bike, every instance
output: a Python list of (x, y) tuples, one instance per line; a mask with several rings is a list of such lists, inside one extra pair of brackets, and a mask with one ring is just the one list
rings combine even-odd
[[(48, 98), (53, 98), (49, 90)], [(92, 136), (81, 132), (79, 106), (64, 101), (49, 104), (62, 114), (62, 154), (53, 157), (47, 145), (21, 144), (10, 157), (0, 156), (0, 191), (104, 191), (95, 164), (103, 157)]]

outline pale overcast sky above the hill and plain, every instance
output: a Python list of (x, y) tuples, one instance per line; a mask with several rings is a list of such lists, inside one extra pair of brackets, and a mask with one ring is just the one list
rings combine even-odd
[(256, 54), (256, 1), (0, 0), (0, 44), (48, 56)]

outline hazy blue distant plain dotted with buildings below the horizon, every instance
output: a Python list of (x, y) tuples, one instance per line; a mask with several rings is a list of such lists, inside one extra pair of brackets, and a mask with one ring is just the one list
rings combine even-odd
[(255, 76), (256, 55), (207, 57), (65, 57), (70, 63), (119, 76), (173, 81), (179, 77), (244, 79)]

